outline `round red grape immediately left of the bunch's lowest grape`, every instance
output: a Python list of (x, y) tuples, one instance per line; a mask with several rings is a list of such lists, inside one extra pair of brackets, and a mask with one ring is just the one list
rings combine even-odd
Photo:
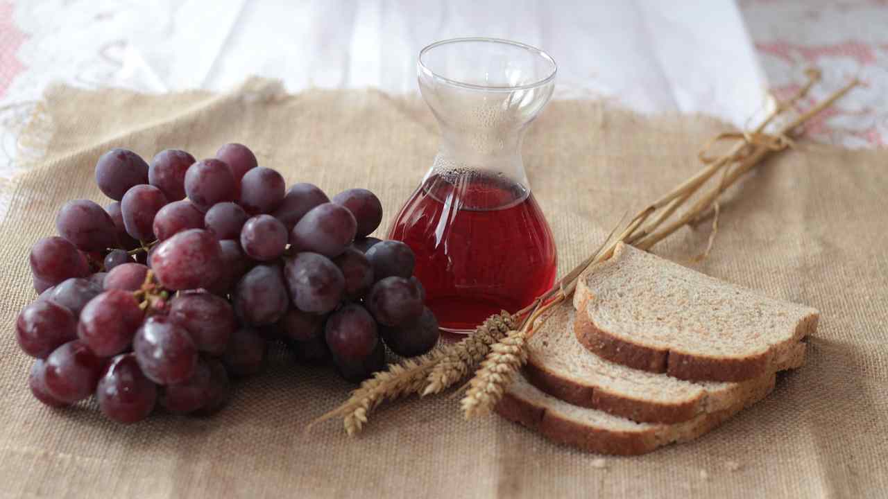
[(72, 404), (86, 399), (96, 390), (104, 367), (104, 360), (82, 342), (69, 341), (46, 358), (46, 392), (55, 400)]

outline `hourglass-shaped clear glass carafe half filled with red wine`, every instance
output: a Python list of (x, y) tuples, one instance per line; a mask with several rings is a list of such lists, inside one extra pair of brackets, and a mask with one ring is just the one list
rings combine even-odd
[(425, 47), (417, 67), (440, 147), (389, 238), (416, 253), (441, 328), (464, 332), (518, 311), (555, 281), (555, 242), (521, 141), (551, 97), (556, 66), (525, 44), (459, 38)]

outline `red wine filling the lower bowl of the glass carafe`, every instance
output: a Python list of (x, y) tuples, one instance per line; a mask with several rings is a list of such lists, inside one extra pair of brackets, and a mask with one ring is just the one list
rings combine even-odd
[(416, 253), (415, 275), (445, 329), (474, 329), (493, 313), (514, 313), (555, 281), (555, 242), (543, 212), (504, 175), (432, 173), (389, 237)]

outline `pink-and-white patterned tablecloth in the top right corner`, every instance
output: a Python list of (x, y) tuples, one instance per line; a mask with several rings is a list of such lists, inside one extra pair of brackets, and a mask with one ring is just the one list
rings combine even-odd
[[(740, 8), (774, 95), (797, 90), (805, 68), (823, 71), (831, 86), (852, 78), (848, 99), (805, 126), (812, 139), (848, 147), (888, 144), (888, 0), (741, 0)], [(878, 27), (878, 28), (877, 28)], [(813, 97), (822, 97), (813, 92)], [(800, 102), (804, 110), (813, 100)]]

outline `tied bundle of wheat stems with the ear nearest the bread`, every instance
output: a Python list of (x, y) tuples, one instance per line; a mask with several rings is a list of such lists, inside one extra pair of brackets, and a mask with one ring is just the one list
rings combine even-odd
[[(828, 99), (824, 100), (817, 106), (799, 115), (795, 120), (783, 125), (775, 135), (765, 133), (767, 125), (773, 122), (773, 119), (781, 115), (789, 107), (794, 105), (798, 99), (802, 99), (812, 88), (813, 84), (820, 79), (819, 72), (809, 72), (808, 82), (797, 91), (797, 93), (787, 102), (780, 102), (774, 110), (765, 116), (765, 119), (756, 129), (749, 133), (725, 133), (720, 134), (716, 138), (703, 147), (699, 157), (701, 162), (705, 164), (704, 168), (688, 178), (686, 181), (675, 187), (669, 194), (666, 194), (659, 200), (646, 206), (644, 210), (632, 218), (629, 224), (623, 229), (622, 233), (610, 244), (605, 242), (606, 249), (601, 248), (593, 253), (592, 257), (587, 260), (589, 263), (583, 265), (586, 268), (591, 265), (598, 264), (614, 254), (614, 249), (620, 242), (633, 244), (639, 249), (651, 249), (654, 244), (662, 241), (665, 237), (673, 234), (679, 228), (692, 223), (695, 219), (714, 206), (718, 214), (718, 196), (732, 186), (744, 173), (755, 168), (765, 158), (767, 154), (781, 151), (792, 145), (792, 140), (788, 135), (795, 131), (801, 124), (805, 123), (813, 115), (820, 113), (826, 107), (832, 105), (836, 99), (841, 98), (845, 93), (850, 91), (858, 84), (856, 80), (845, 85), (839, 91), (833, 93)], [(735, 144), (728, 153), (718, 158), (709, 158), (705, 155), (706, 151), (718, 140), (737, 139)], [(718, 171), (722, 172), (722, 177), (717, 186), (705, 191), (700, 199), (686, 210), (678, 219), (667, 224), (667, 220), (687, 202), (694, 194), (701, 191), (702, 186), (706, 185)], [(654, 216), (654, 214), (656, 214)], [(654, 216), (654, 218), (651, 218)], [(641, 226), (650, 219), (650, 222), (644, 228)], [(665, 226), (664, 226), (665, 225)], [(713, 222), (713, 231), (718, 230), (718, 218)], [(612, 233), (613, 234), (613, 233)], [(715, 233), (710, 234), (710, 241), (704, 255), (709, 254), (712, 248), (713, 237)], [(608, 240), (610, 236), (608, 236)], [(583, 262), (586, 264), (586, 262)], [(582, 272), (582, 270), (581, 270)], [(527, 339), (533, 335), (535, 329), (541, 326), (541, 322), (536, 321), (539, 313), (546, 308), (562, 301), (570, 293), (573, 292), (578, 278), (574, 272), (569, 274), (571, 281), (559, 281), (559, 289), (552, 289), (549, 293), (559, 291), (559, 296), (551, 300), (546, 306), (539, 307), (533, 313), (527, 326), (519, 331), (512, 331), (502, 341), (495, 345), (491, 345), (488, 357), (481, 363), (480, 369), (475, 373), (472, 381), (469, 382), (469, 389), (466, 392), (461, 406), (464, 416), (468, 419), (472, 416), (480, 416), (488, 414), (503, 397), (503, 393), (508, 389), (509, 384), (521, 368), (527, 362)], [(559, 299), (560, 298), (560, 299)], [(543, 299), (544, 301), (544, 299)]]

